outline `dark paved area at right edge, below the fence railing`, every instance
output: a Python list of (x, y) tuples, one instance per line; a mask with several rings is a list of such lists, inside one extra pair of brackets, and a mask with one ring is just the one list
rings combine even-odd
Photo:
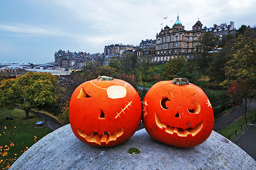
[(256, 160), (256, 120), (251, 127), (235, 142), (235, 144)]

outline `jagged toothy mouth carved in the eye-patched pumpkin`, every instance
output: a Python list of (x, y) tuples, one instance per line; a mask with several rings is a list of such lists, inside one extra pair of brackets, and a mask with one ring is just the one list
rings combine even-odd
[(93, 132), (91, 135), (86, 135), (84, 131), (77, 129), (77, 133), (86, 139), (87, 142), (94, 142), (98, 145), (101, 145), (102, 142), (108, 144), (109, 141), (116, 141), (124, 133), (124, 128), (119, 129), (113, 135), (110, 135), (108, 131), (104, 131), (102, 135), (99, 135), (97, 132)]

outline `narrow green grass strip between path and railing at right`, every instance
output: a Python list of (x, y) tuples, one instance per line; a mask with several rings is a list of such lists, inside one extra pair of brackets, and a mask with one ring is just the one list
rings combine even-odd
[[(255, 117), (254, 117), (254, 114), (256, 113), (256, 109), (250, 111), (249, 113), (247, 113), (246, 117), (247, 117), (247, 122), (248, 123), (252, 123), (252, 121), (255, 120)], [(252, 117), (252, 121), (251, 119), (248, 119), (250, 118), (251, 116), (253, 115)], [(224, 127), (223, 129), (221, 129), (220, 131), (218, 131), (218, 133), (226, 138), (228, 138), (228, 136), (233, 133), (237, 128), (241, 128), (241, 124), (244, 123), (246, 120), (244, 119), (244, 116), (240, 117), (239, 119), (237, 119), (236, 121), (234, 121), (232, 124)], [(245, 123), (243, 124), (243, 126), (245, 125)], [(239, 131), (240, 129), (238, 129)], [(230, 135), (230, 138), (232, 136), (234, 136), (235, 133), (233, 133), (232, 135)]]

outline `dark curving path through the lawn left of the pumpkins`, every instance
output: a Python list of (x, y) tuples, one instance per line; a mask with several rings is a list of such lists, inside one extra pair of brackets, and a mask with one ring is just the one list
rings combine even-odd
[[(21, 106), (18, 106), (18, 105), (14, 105), (14, 107), (16, 109), (22, 109)], [(35, 114), (40, 119), (44, 120), (44, 123), (46, 125), (48, 125), (48, 127), (50, 127), (50, 129), (52, 129), (52, 131), (55, 131), (56, 129), (58, 129), (58, 128), (63, 126), (54, 117), (46, 115), (45, 113), (40, 113), (38, 111), (33, 111), (33, 110), (30, 110), (29, 112)]]

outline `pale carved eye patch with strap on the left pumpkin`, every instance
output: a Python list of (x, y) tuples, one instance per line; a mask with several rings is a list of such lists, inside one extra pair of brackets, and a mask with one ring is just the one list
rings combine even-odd
[(109, 86), (108, 88), (102, 88), (97, 86), (96, 84), (94, 84), (92, 81), (90, 81), (94, 86), (101, 88), (103, 90), (107, 91), (108, 97), (111, 99), (119, 99), (119, 98), (124, 98), (126, 96), (127, 90), (126, 90), (126, 86), (127, 84), (125, 84), (124, 86), (120, 86), (120, 85), (113, 85), (113, 86)]

